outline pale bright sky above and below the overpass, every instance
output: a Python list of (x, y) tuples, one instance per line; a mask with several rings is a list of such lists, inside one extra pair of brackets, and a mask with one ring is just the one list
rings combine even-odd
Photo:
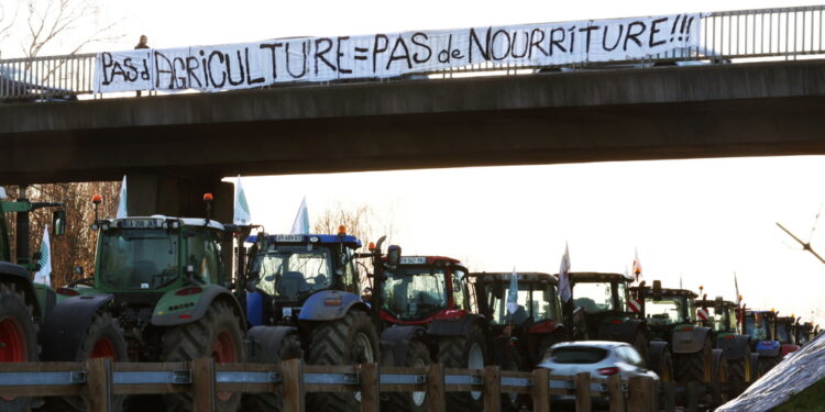
[[(803, 1), (218, 1), (107, 2), (125, 34), (88, 51), (358, 35), (805, 5)], [(306, 196), (310, 220), (332, 204), (370, 204), (406, 253), (460, 258), (471, 270), (623, 272), (638, 248), (646, 278), (810, 318), (825, 265), (774, 224), (807, 238), (825, 201), (825, 158), (765, 157), (408, 170), (245, 178), (253, 220), (286, 232)], [(380, 188), (381, 191), (376, 190)], [(813, 236), (825, 253), (825, 227)], [(374, 240), (365, 240), (374, 241)], [(822, 245), (821, 248), (817, 246)], [(825, 324), (825, 313), (817, 320)]]

